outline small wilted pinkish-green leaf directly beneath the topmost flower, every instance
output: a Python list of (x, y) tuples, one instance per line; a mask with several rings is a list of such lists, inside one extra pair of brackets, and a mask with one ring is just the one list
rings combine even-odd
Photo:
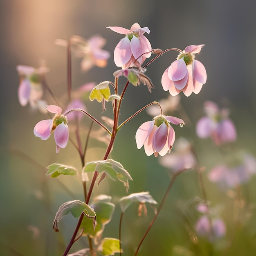
[(145, 69), (137, 70), (135, 68), (117, 70), (114, 72), (115, 77), (125, 76), (132, 85), (137, 86), (140, 85), (140, 82), (147, 85), (148, 90), (151, 92), (151, 89), (154, 88), (150, 79), (144, 75)]

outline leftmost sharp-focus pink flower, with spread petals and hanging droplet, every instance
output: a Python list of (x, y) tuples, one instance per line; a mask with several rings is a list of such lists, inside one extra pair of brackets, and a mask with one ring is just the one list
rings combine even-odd
[(47, 106), (47, 110), (54, 113), (53, 119), (47, 119), (40, 121), (34, 128), (34, 135), (46, 140), (54, 132), (54, 139), (56, 142), (56, 153), (59, 152), (60, 148), (65, 148), (68, 141), (68, 127), (67, 117), (61, 115), (62, 109), (55, 105)]

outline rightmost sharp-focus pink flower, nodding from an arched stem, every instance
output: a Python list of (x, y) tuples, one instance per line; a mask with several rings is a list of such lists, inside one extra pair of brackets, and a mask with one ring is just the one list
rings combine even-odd
[(198, 94), (206, 83), (207, 74), (204, 65), (196, 61), (195, 54), (204, 45), (189, 45), (177, 56), (176, 61), (167, 67), (162, 75), (162, 86), (165, 91), (175, 96), (181, 91), (188, 97), (192, 92)]

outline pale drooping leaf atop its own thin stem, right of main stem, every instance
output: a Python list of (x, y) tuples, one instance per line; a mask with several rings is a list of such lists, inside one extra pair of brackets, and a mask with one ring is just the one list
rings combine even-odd
[(132, 202), (157, 204), (149, 192), (132, 193), (119, 199), (121, 210), (124, 212)]

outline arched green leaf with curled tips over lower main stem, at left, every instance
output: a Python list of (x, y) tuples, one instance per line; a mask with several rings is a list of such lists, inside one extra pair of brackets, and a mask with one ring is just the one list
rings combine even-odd
[(74, 200), (65, 202), (58, 209), (53, 222), (53, 230), (55, 232), (59, 231), (58, 222), (68, 213), (71, 213), (77, 219), (82, 213), (88, 218), (93, 218), (93, 228), (95, 229), (97, 225), (95, 211), (88, 204), (85, 204), (80, 200)]

